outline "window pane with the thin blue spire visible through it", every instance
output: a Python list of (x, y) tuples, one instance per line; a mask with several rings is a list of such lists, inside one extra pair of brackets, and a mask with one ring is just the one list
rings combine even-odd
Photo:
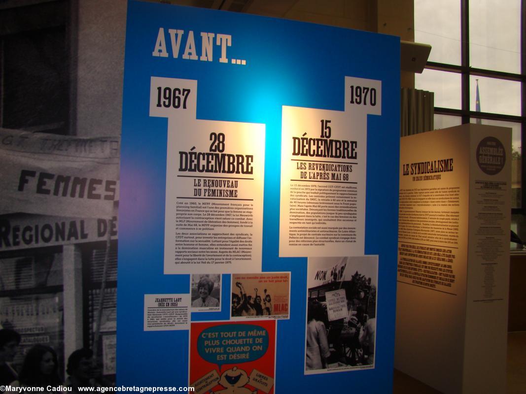
[[(477, 80), (479, 81), (479, 101), (481, 112), (521, 115), (521, 83), (505, 79), (469, 77), (469, 109), (476, 111)], [(436, 106), (436, 104), (435, 104)]]

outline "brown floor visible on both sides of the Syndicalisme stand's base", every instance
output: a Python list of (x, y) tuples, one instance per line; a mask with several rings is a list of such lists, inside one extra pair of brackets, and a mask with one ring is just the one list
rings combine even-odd
[[(424, 383), (395, 369), (393, 394), (440, 394)], [(526, 393), (526, 331), (508, 334), (506, 394)]]

